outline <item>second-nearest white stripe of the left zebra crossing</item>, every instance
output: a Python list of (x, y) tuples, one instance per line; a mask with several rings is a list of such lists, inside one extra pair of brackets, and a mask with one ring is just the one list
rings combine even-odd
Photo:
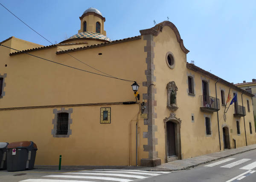
[(122, 179), (122, 178), (110, 178), (110, 177), (100, 177), (100, 176), (72, 176), (72, 175), (47, 175), (43, 177), (56, 177), (56, 178), (81, 178), (81, 179), (102, 179), (109, 181), (118, 181), (118, 182), (131, 182), (131, 179)]

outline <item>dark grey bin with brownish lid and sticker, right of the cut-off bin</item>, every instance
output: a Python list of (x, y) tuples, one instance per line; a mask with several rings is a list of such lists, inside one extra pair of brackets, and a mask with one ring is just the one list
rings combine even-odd
[(33, 169), (37, 146), (32, 141), (12, 142), (7, 146), (7, 171)]

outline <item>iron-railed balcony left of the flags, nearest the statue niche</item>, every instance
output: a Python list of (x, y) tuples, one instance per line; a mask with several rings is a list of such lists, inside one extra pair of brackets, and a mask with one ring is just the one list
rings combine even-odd
[(220, 110), (220, 100), (215, 97), (207, 95), (201, 95), (200, 97), (200, 109), (201, 111), (216, 112)]

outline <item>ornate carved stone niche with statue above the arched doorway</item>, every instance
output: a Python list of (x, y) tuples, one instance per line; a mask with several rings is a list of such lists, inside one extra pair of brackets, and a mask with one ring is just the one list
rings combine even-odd
[(178, 108), (177, 100), (176, 100), (178, 88), (174, 81), (169, 82), (166, 88), (167, 88), (167, 108), (169, 108), (171, 111), (176, 111)]

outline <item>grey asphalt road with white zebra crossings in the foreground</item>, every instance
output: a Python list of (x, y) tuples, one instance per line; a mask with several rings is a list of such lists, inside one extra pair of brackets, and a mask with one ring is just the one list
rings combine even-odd
[(185, 171), (142, 171), (140, 168), (77, 168), (0, 171), (0, 182), (256, 182), (256, 150)]

